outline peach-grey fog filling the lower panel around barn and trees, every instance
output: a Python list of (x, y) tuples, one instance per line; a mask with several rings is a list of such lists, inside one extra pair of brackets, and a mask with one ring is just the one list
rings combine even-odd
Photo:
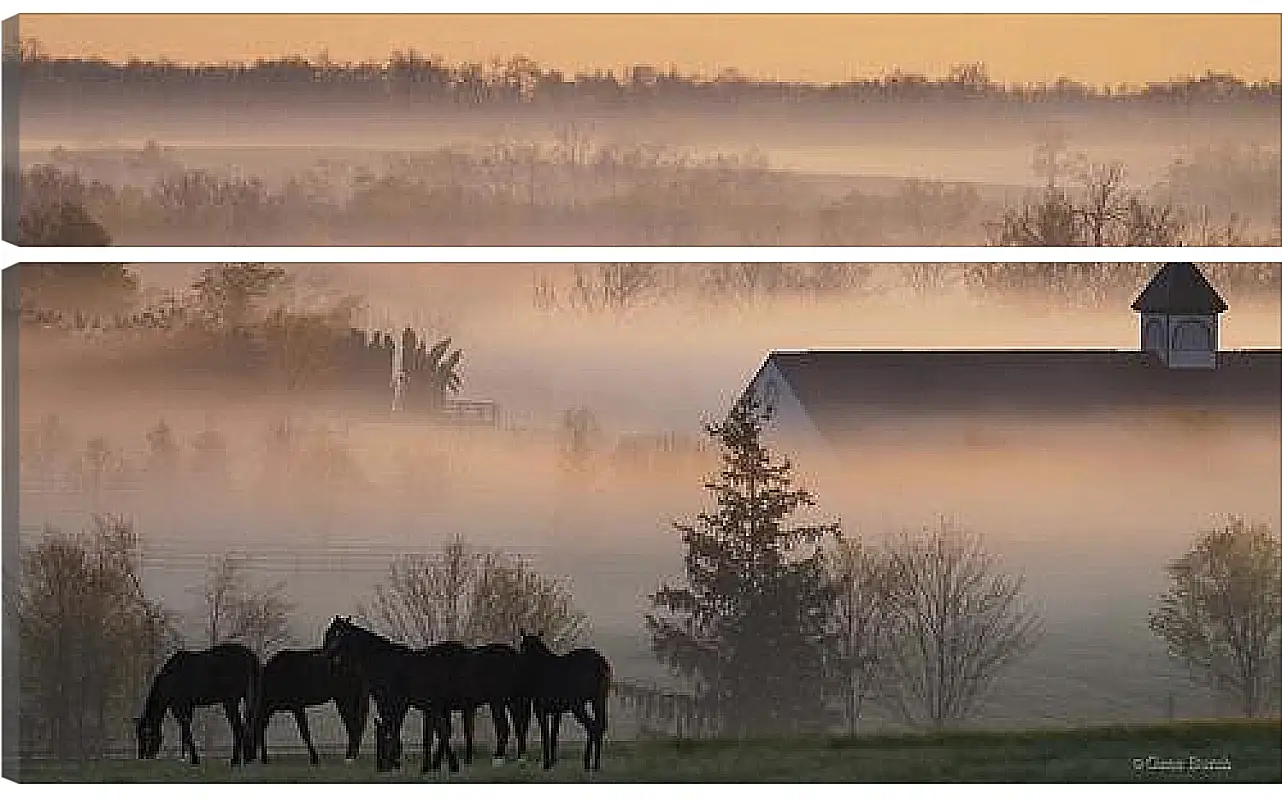
[[(44, 524), (85, 527), (92, 512), (127, 514), (144, 536), (147, 588), (181, 610), (195, 606), (190, 587), (212, 554), (244, 551), (259, 574), (287, 582), (296, 631), (309, 641), (329, 615), (368, 599), (395, 554), (433, 551), (462, 533), (567, 578), (590, 640), (620, 678), (653, 679), (662, 671), (641, 615), (649, 592), (679, 577), (669, 523), (708, 503), (701, 483), (715, 455), (700, 447), (700, 424), (726, 410), (769, 350), (1131, 349), (1138, 336), (1133, 295), (1083, 308), (1050, 295), (909, 290), (890, 279), (896, 267), (873, 271), (876, 290), (806, 297), (709, 303), (669, 292), (622, 310), (535, 301), (536, 286), (564, 287), (576, 268), (596, 265), (290, 268), (310, 303), (355, 294), (370, 327), (451, 337), (464, 351), (462, 397), (496, 401), (497, 428), (354, 412), (319, 391), (209, 386), (182, 371), (136, 379), (137, 341), (24, 331), (23, 441), (56, 414), (68, 444), (38, 468), (23, 451), (22, 537), (31, 542)], [(137, 272), (162, 291), (196, 269)], [(1222, 294), (1231, 306), (1223, 347), (1282, 344), (1276, 292)], [(559, 450), (559, 415), (570, 408), (591, 409), (603, 432), (583, 473), (565, 468)], [(326, 428), (331, 453), (354, 469), (337, 478), (306, 472), (305, 462), (281, 469), (265, 437), (286, 417)], [(164, 481), (145, 468), (145, 435), (160, 418), (182, 447)], [(223, 473), (195, 468), (191, 442), (205, 429), (226, 437)], [(679, 446), (649, 465), (617, 450), (620, 438), (660, 433)], [(94, 436), (119, 465), (97, 488), (76, 487), (69, 471)], [(904, 415), (832, 451), (791, 453), (819, 514), (840, 517), (847, 533), (877, 541), (945, 515), (983, 532), (1003, 565), (1027, 576), (1047, 636), (999, 685), (987, 724), (1151, 719), (1168, 696), (1181, 715), (1215, 713), (1165, 660), (1145, 614), (1163, 567), (1197, 531), (1228, 514), (1277, 529), (1279, 454), (1276, 417), (1206, 427), (1141, 412), (1038, 423)]]

